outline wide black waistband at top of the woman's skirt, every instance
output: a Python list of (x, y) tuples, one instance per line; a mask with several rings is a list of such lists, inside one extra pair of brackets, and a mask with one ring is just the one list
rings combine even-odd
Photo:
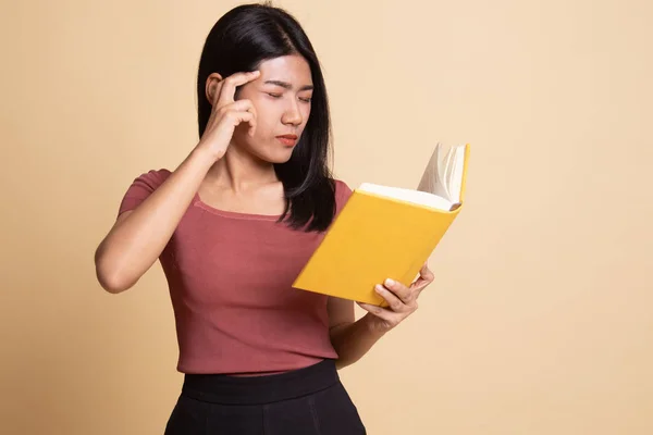
[(280, 374), (230, 376), (224, 374), (186, 374), (183, 395), (212, 403), (262, 405), (306, 396), (340, 382), (335, 361)]

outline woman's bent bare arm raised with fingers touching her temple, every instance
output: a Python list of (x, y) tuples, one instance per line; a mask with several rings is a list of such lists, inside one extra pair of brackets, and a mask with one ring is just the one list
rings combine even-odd
[(257, 77), (258, 72), (236, 73), (207, 80), (213, 109), (201, 140), (143, 202), (118, 217), (96, 250), (96, 275), (107, 291), (124, 291), (140, 279), (168, 245), (209, 169), (226, 152), (235, 127), (245, 122), (254, 132), (251, 101), (234, 101), (234, 94)]

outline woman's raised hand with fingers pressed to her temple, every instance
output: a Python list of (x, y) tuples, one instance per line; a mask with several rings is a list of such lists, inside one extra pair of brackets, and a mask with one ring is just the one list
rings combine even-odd
[(219, 160), (226, 152), (234, 130), (241, 123), (249, 123), (249, 135), (254, 135), (256, 129), (254, 104), (247, 99), (235, 101), (234, 96), (236, 87), (258, 78), (259, 75), (259, 71), (235, 73), (218, 83), (211, 95), (211, 115), (197, 145), (198, 149), (207, 150)]

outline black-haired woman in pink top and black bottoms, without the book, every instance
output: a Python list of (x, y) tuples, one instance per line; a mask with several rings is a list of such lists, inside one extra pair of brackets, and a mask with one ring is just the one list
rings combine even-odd
[(174, 309), (184, 385), (168, 435), (364, 434), (336, 370), (417, 308), (432, 281), (378, 286), (390, 308), (292, 288), (350, 195), (326, 166), (320, 65), (286, 12), (249, 4), (207, 37), (197, 77), (200, 140), (174, 170), (127, 189), (96, 252), (110, 293), (157, 261)]

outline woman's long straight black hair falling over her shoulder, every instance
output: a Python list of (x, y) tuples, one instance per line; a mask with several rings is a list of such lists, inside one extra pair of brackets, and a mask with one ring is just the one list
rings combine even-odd
[(335, 185), (328, 159), (331, 120), (318, 57), (296, 18), (269, 3), (243, 4), (224, 14), (207, 36), (197, 74), (197, 117), (201, 137), (211, 103), (206, 80), (211, 73), (227, 77), (254, 71), (269, 59), (299, 54), (308, 62), (313, 82), (311, 113), (291, 159), (274, 164), (286, 200), (284, 219), (294, 228), (324, 231), (335, 213)]

